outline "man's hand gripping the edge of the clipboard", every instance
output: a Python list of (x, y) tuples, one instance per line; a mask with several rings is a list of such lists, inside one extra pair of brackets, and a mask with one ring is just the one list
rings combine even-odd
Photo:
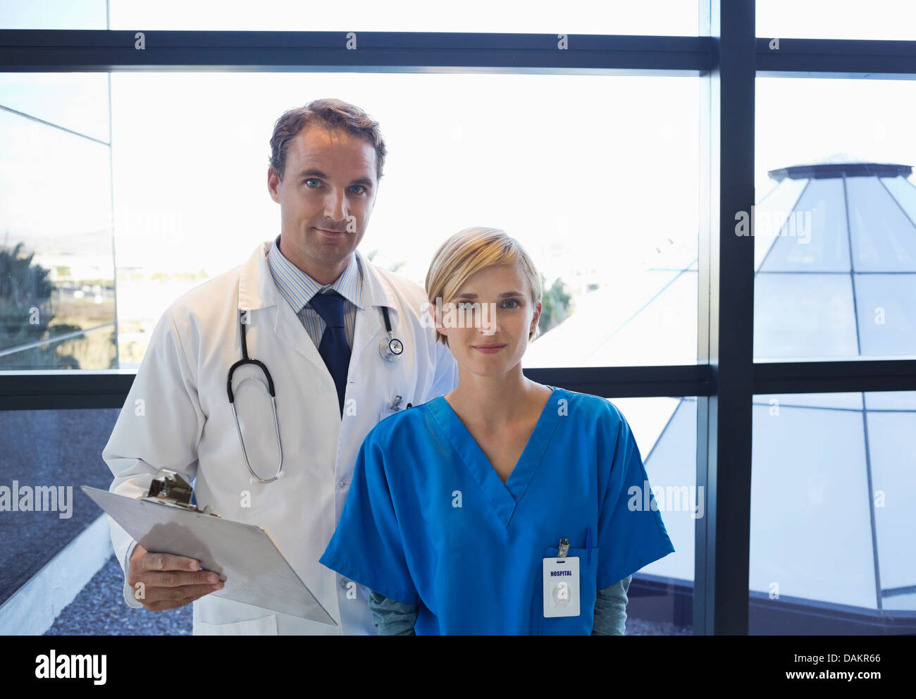
[(127, 584), (134, 598), (151, 612), (191, 604), (223, 589), (219, 576), (202, 571), (201, 563), (170, 553), (150, 553), (136, 544), (130, 556)]

